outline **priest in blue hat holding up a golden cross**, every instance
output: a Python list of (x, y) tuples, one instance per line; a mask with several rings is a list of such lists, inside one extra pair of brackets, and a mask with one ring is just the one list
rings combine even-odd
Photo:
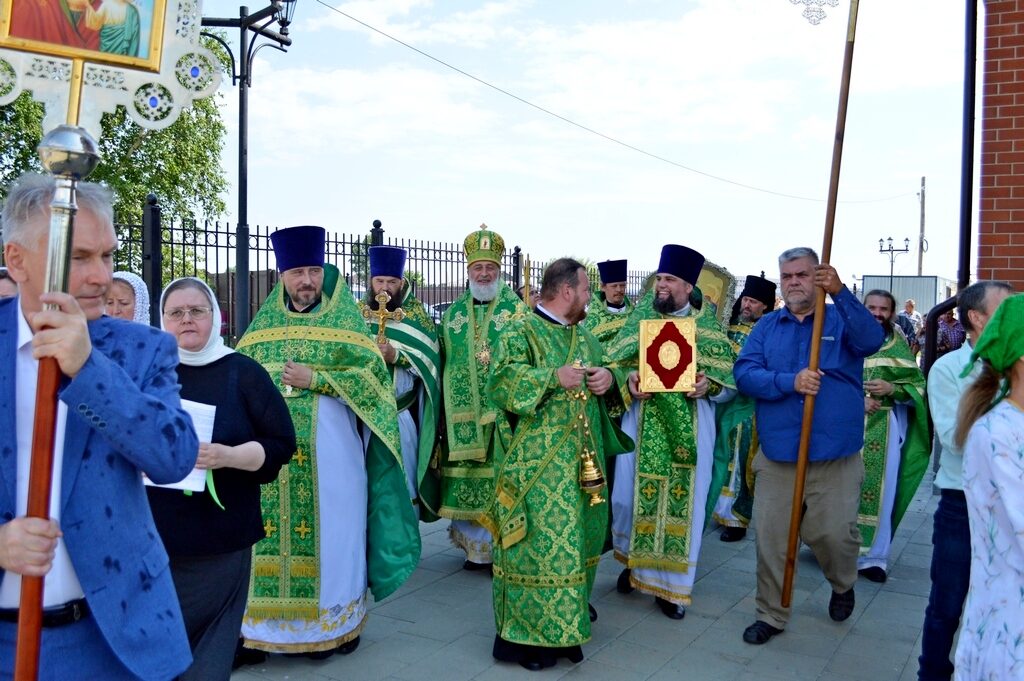
[(371, 246), (369, 255), (370, 289), (361, 304), (362, 316), (371, 336), (384, 334), (378, 347), (394, 381), (409, 496), (421, 519), (435, 520), (439, 478), (430, 458), (440, 413), (437, 331), (406, 278), (406, 249)]

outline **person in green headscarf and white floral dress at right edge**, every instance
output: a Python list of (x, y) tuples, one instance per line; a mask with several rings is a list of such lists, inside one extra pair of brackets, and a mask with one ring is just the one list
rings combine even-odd
[(1024, 294), (985, 325), (965, 368), (956, 443), (971, 524), (971, 586), (956, 644), (956, 681), (1024, 678)]

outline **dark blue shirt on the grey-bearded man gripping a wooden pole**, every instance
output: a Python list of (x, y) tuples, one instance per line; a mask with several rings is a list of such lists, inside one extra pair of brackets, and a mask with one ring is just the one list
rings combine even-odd
[[(864, 445), (864, 357), (885, 341), (885, 331), (843, 287), (825, 305), (818, 363), (824, 372), (814, 400), (810, 461), (842, 459)], [(811, 356), (814, 313), (800, 322), (788, 309), (765, 314), (751, 332), (732, 373), (736, 387), (757, 400), (761, 449), (772, 461), (796, 462), (804, 395), (793, 383)]]

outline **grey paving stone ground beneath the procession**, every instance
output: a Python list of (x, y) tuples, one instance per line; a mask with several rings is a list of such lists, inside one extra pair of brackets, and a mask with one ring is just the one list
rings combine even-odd
[(938, 497), (929, 473), (893, 539), (889, 580), (861, 579), (857, 605), (844, 623), (828, 619), (831, 591), (810, 550), (801, 551), (794, 613), (765, 645), (743, 643), (754, 622), (754, 530), (725, 544), (705, 537), (693, 604), (672, 621), (653, 598), (615, 591), (622, 566), (609, 555), (598, 567), (592, 602), (599, 613), (579, 665), (527, 672), (490, 656), (495, 624), (490, 580), (462, 569), (447, 522), (420, 525), (423, 557), (402, 588), (371, 607), (358, 649), (327, 661), (270, 655), (231, 681), (910, 681), (916, 679), (921, 630), (930, 588), (932, 515)]

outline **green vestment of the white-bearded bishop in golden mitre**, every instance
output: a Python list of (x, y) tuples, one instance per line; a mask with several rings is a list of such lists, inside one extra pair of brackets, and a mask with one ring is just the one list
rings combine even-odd
[(441, 494), (437, 514), (480, 521), (495, 494), (490, 452), (495, 423), (504, 418), (483, 394), (499, 334), (529, 308), (501, 286), (489, 303), (473, 304), (466, 291), (444, 310), (444, 428), (440, 441)]

